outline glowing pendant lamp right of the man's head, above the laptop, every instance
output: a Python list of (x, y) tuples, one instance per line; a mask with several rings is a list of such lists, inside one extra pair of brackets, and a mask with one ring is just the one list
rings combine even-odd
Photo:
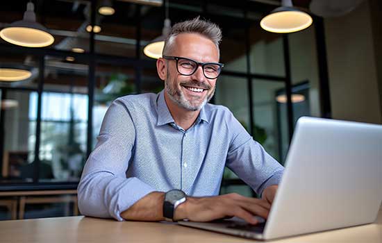
[(273, 33), (293, 33), (308, 28), (312, 23), (312, 17), (294, 8), (292, 0), (282, 0), (282, 6), (263, 17), (260, 26)]

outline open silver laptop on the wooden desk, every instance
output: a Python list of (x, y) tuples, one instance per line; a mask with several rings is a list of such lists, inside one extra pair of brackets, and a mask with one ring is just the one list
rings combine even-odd
[(178, 224), (272, 240), (372, 223), (381, 201), (382, 126), (301, 117), (267, 221), (256, 226), (238, 218)]

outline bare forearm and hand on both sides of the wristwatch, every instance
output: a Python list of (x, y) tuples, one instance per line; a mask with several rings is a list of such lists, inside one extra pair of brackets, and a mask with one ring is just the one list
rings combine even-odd
[[(137, 221), (163, 221), (163, 192), (152, 192), (122, 212), (124, 219)], [(240, 217), (250, 224), (257, 224), (254, 215), (268, 217), (270, 204), (260, 199), (251, 199), (239, 194), (222, 196), (188, 197), (175, 210), (174, 219), (211, 221), (224, 217)]]

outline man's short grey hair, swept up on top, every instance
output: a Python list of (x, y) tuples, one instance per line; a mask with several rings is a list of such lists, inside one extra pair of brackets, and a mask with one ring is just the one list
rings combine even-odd
[[(222, 40), (222, 30), (208, 20), (196, 17), (194, 19), (179, 22), (172, 26), (171, 32), (167, 35), (165, 40), (165, 47), (163, 48), (163, 55), (167, 55), (174, 47), (175, 37), (181, 33), (196, 33), (211, 40), (219, 51), (219, 43)], [(219, 55), (220, 56), (220, 55)]]

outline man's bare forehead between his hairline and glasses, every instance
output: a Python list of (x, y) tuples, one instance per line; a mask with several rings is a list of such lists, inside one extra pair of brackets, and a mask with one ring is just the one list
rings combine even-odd
[(199, 62), (218, 62), (219, 51), (214, 42), (196, 33), (182, 33), (174, 40), (172, 55)]

